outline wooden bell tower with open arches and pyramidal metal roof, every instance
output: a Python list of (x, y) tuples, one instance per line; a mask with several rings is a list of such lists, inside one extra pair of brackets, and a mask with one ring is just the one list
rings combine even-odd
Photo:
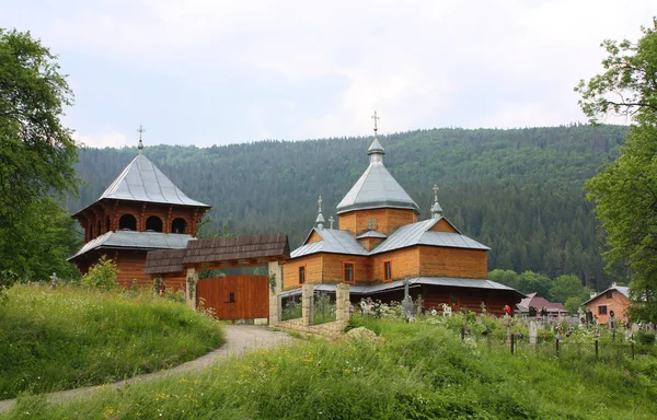
[[(104, 255), (117, 264), (123, 287), (151, 285), (143, 272), (147, 253), (186, 248), (210, 209), (187, 197), (143, 155), (142, 131), (137, 156), (95, 202), (73, 214), (84, 230), (84, 245), (69, 260), (85, 273)], [(184, 273), (168, 279), (169, 287), (184, 284)]]

